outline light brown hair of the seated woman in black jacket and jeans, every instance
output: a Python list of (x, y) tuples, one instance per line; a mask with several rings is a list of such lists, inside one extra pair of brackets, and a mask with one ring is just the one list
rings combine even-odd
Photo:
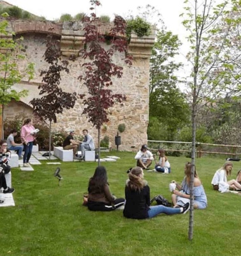
[(145, 186), (146, 182), (140, 177), (140, 174), (143, 172), (141, 167), (134, 167), (131, 169), (131, 172), (129, 172), (129, 181), (128, 181), (128, 188), (131, 190), (138, 190), (141, 191), (141, 189)]

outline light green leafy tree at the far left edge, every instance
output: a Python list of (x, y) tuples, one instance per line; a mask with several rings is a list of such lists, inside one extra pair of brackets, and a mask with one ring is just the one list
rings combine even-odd
[[(5, 19), (0, 22), (0, 104), (1, 115), (3, 120), (4, 106), (12, 99), (20, 100), (21, 97), (26, 97), (27, 90), (17, 91), (13, 88), (14, 84), (19, 83), (24, 77), (33, 79), (34, 64), (28, 63), (24, 72), (19, 71), (20, 61), (26, 58), (20, 54), (21, 42), (23, 38), (13, 40), (14, 33), (8, 31), (7, 13), (3, 15)], [(21, 67), (22, 69), (22, 67)], [(2, 137), (4, 138), (3, 124)]]

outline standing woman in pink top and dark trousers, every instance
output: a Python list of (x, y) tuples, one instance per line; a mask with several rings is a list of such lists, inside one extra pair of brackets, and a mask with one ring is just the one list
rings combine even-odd
[(34, 129), (33, 120), (27, 118), (21, 128), (21, 140), (24, 145), (24, 167), (30, 166), (29, 159), (33, 150), (33, 141), (35, 140), (33, 133)]

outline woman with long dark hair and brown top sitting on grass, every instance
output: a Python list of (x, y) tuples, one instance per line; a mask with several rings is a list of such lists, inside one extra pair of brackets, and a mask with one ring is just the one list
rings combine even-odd
[(89, 180), (88, 209), (91, 211), (113, 211), (124, 205), (124, 198), (117, 198), (110, 192), (104, 166), (98, 166)]

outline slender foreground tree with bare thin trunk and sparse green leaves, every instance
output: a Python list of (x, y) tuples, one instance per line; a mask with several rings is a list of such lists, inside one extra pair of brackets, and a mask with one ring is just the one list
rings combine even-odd
[[(191, 211), (189, 218), (189, 240), (193, 239), (193, 180), (195, 164), (195, 144), (196, 144), (196, 116), (198, 108), (202, 108), (215, 97), (219, 97), (226, 89), (231, 74), (227, 72), (225, 60), (231, 47), (226, 40), (229, 29), (221, 37), (219, 33), (226, 26), (233, 26), (232, 22), (226, 19), (231, 12), (230, 4), (234, 0), (186, 0), (184, 10), (186, 19), (183, 25), (189, 31), (188, 40), (191, 44), (187, 60), (191, 62), (191, 80), (188, 85), (191, 91), (191, 121), (192, 121), (192, 175), (191, 175)], [(224, 22), (224, 23), (223, 23)], [(218, 39), (217, 39), (218, 37)]]

